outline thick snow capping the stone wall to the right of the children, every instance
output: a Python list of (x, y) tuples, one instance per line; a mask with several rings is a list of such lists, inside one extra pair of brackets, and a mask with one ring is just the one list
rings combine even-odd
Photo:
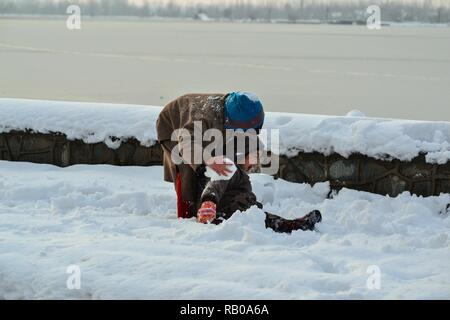
[(410, 161), (424, 153), (429, 163), (450, 160), (450, 122), (445, 121), (268, 113), (264, 127), (280, 130), (280, 153), (287, 156), (299, 151), (344, 157), (361, 153)]

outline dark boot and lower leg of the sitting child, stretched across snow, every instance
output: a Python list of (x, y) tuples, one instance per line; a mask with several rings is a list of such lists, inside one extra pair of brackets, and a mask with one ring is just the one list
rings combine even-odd
[(314, 230), (315, 224), (322, 221), (320, 211), (314, 210), (306, 216), (294, 220), (284, 219), (277, 215), (266, 212), (266, 228), (271, 228), (275, 232), (291, 233), (295, 230)]

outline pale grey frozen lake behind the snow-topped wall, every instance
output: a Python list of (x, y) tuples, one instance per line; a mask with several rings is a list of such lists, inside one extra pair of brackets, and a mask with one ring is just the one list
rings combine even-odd
[(0, 19), (0, 97), (164, 105), (247, 90), (270, 111), (450, 121), (450, 28)]

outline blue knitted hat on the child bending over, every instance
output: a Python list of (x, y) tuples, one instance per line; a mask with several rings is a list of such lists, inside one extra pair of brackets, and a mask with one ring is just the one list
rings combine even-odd
[(225, 129), (261, 129), (264, 109), (259, 98), (249, 92), (231, 92), (225, 101)]

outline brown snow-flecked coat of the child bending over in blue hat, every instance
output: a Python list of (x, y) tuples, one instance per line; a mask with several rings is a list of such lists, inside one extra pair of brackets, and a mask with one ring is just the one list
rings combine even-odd
[[(218, 129), (224, 134), (224, 105), (226, 94), (186, 94), (161, 111), (156, 122), (158, 141), (164, 150), (164, 180), (175, 182), (177, 172), (182, 175), (182, 194), (185, 201), (196, 201), (196, 171), (198, 164), (175, 165), (171, 151), (179, 141), (171, 141), (176, 129), (187, 129), (194, 136), (194, 121), (201, 121), (202, 134), (207, 129)], [(178, 137), (181, 139), (180, 137)], [(203, 143), (201, 148), (210, 142)]]

